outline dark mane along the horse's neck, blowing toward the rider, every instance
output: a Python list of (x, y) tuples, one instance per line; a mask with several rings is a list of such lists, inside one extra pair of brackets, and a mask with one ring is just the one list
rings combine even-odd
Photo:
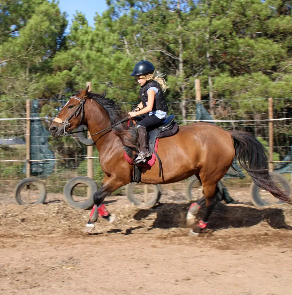
[[(87, 96), (103, 107), (105, 112), (110, 117), (110, 125), (113, 125), (123, 117), (126, 117), (126, 114), (122, 111), (116, 99), (109, 99), (105, 97), (105, 93), (98, 94), (94, 92), (88, 92)], [(123, 145), (135, 146), (132, 142), (132, 135), (128, 132), (126, 122), (118, 124), (116, 127), (113, 127), (112, 130), (114, 134), (116, 134), (121, 139)]]

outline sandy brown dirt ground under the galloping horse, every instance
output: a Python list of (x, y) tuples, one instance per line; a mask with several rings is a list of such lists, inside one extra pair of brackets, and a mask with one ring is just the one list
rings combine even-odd
[[(189, 237), (184, 194), (168, 191), (153, 209), (106, 199), (117, 214), (83, 234), (89, 211), (62, 195), (46, 204), (14, 204), (0, 193), (0, 294), (291, 295), (292, 207), (218, 204), (209, 229)], [(201, 217), (204, 208), (198, 214)]]

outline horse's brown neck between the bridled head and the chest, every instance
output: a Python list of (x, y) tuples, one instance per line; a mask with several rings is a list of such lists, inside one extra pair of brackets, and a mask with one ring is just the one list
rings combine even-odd
[[(110, 127), (110, 118), (105, 110), (100, 106), (96, 106), (95, 102), (87, 106), (86, 121), (90, 134), (95, 134)], [(101, 134), (93, 135), (93, 142), (101, 155), (108, 153), (109, 150), (115, 149), (117, 144), (122, 145), (121, 140), (110, 130)]]

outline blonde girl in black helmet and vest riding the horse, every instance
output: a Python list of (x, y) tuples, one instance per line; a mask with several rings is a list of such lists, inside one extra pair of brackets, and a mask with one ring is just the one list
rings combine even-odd
[[(168, 86), (163, 78), (164, 75), (160, 72), (155, 73), (154, 65), (147, 60), (139, 61), (131, 76), (136, 76), (137, 82), (141, 85), (139, 90), (141, 102), (128, 115), (137, 121), (140, 151), (143, 158), (146, 159), (151, 156), (148, 150), (146, 130), (161, 125), (166, 119), (168, 107), (163, 92)], [(142, 161), (142, 163), (145, 162), (146, 160)]]

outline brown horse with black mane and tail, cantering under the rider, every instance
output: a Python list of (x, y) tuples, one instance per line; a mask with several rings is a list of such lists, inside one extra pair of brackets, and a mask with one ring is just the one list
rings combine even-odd
[[(122, 112), (115, 101), (104, 95), (88, 92), (87, 88), (70, 97), (49, 129), (55, 137), (62, 137), (64, 132), (69, 132), (80, 124), (85, 124), (92, 135), (99, 132), (92, 138), (99, 151), (100, 165), (105, 177), (103, 185), (94, 194), (95, 205), (86, 224), (86, 232), (94, 229), (98, 214), (109, 222), (116, 222), (115, 216), (109, 214), (102, 204), (103, 199), (131, 182), (133, 165), (123, 155), (126, 122), (108, 130), (108, 127), (121, 119)], [(159, 140), (157, 154), (162, 162), (162, 176), (159, 177), (159, 164), (156, 161), (150, 169), (143, 169), (141, 182), (172, 183), (196, 175), (202, 183), (207, 210), (203, 220), (194, 227), (194, 233), (207, 226), (209, 216), (218, 201), (215, 198), (218, 192), (217, 183), (230, 168), (235, 156), (258, 186), (270, 191), (276, 198), (292, 204), (291, 199), (271, 180), (263, 146), (247, 133), (228, 132), (208, 123), (179, 126), (175, 135)], [(187, 218), (194, 218), (199, 208), (199, 204), (192, 204)]]

